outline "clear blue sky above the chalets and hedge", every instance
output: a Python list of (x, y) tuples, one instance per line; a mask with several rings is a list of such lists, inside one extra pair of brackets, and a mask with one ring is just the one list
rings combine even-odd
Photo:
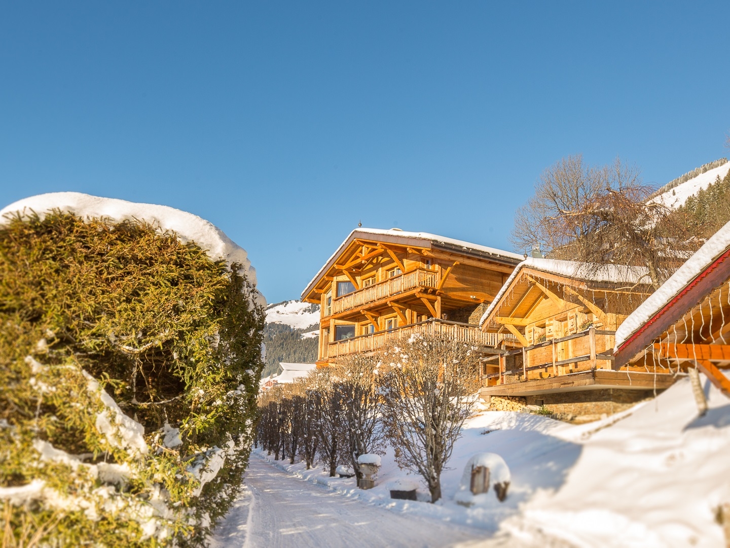
[(188, 210), (296, 298), (360, 220), (510, 248), (562, 156), (726, 156), (729, 45), (727, 1), (4, 2), (0, 205)]

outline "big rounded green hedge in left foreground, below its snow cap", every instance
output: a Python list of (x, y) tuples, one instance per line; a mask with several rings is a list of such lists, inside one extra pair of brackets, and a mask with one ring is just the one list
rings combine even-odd
[(263, 366), (256, 297), (238, 265), (144, 221), (6, 218), (6, 533), (48, 546), (202, 544), (247, 463)]

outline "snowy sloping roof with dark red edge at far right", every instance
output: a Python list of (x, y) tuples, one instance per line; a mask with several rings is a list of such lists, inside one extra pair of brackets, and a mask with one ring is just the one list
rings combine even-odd
[(730, 275), (729, 259), (730, 222), (623, 321), (616, 331), (616, 352), (635, 354), (632, 343), (639, 335), (642, 339), (660, 335), (712, 289), (726, 281)]

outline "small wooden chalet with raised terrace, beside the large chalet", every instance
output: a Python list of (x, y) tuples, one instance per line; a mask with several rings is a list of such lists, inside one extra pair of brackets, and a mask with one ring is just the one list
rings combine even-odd
[(480, 321), (484, 332), (514, 335), (484, 359), (481, 395), (579, 413), (585, 403), (604, 413), (668, 387), (671, 376), (657, 381), (644, 368), (629, 374), (613, 363), (616, 330), (650, 293), (639, 267), (525, 259)]

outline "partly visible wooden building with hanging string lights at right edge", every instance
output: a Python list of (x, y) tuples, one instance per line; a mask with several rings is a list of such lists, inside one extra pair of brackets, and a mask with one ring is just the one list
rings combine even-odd
[(678, 373), (697, 367), (730, 397), (730, 223), (616, 333), (614, 368)]

